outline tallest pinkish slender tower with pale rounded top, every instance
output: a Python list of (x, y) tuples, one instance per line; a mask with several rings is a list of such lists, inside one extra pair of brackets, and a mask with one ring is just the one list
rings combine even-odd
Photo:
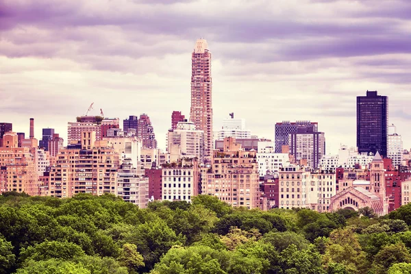
[(204, 132), (204, 156), (212, 155), (211, 53), (207, 41), (198, 39), (191, 55), (190, 121)]

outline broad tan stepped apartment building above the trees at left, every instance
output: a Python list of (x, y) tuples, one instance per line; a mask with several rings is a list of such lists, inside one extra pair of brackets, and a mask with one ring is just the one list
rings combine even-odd
[(52, 197), (70, 198), (78, 193), (117, 194), (119, 153), (106, 140), (95, 140), (95, 132), (81, 132), (79, 149), (62, 149), (51, 167), (49, 190)]

